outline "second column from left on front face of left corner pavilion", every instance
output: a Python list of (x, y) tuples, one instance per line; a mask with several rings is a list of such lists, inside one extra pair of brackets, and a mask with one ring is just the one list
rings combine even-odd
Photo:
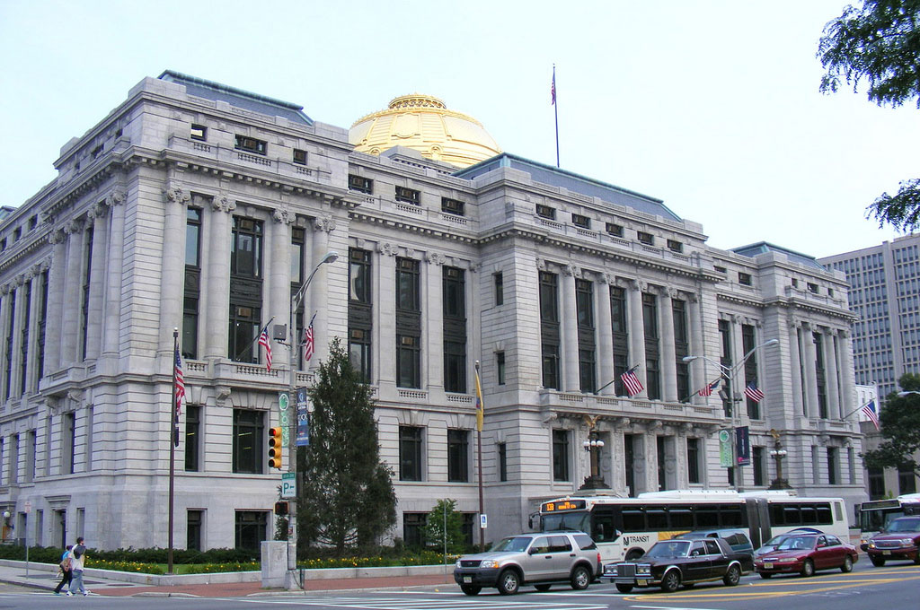
[(230, 240), (231, 220), (236, 201), (220, 195), (213, 198), (207, 219), (210, 229), (208, 252), (207, 292), (204, 357), (208, 359), (227, 356), (227, 333), (230, 324)]

